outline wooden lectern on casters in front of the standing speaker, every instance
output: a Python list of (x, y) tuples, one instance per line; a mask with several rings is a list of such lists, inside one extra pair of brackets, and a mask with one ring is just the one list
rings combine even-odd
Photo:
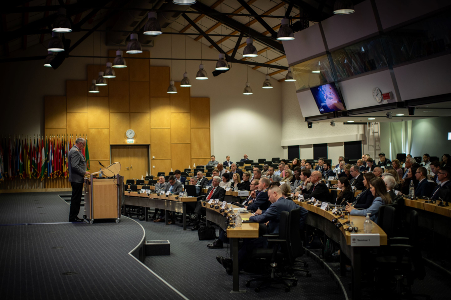
[[(120, 221), (124, 197), (124, 177), (119, 175), (120, 163), (115, 162), (84, 178), (84, 219), (93, 224), (98, 219)], [(98, 174), (107, 177), (97, 177)]]

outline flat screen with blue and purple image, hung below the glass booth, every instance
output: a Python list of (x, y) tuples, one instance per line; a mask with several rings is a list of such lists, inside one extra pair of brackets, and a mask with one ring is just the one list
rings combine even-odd
[(321, 114), (346, 109), (334, 82), (310, 88), (310, 91)]

